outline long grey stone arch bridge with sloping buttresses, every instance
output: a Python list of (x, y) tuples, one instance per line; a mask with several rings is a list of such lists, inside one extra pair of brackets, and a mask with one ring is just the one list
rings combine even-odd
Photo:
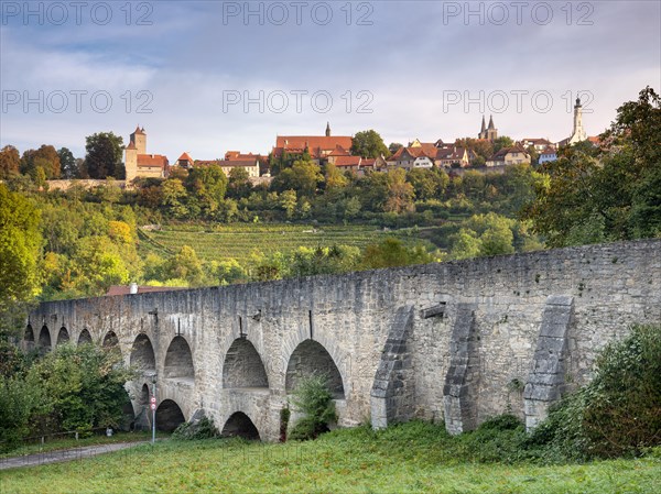
[[(451, 432), (511, 409), (533, 427), (596, 352), (661, 320), (661, 241), (280, 282), (41, 304), (24, 344), (117, 345), (156, 425), (198, 410), (275, 440), (301, 376), (328, 376), (339, 426), (414, 417)], [(148, 425), (147, 422), (145, 425)]]

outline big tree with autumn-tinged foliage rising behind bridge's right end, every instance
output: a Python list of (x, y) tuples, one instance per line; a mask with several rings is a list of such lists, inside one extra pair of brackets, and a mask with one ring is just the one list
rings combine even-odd
[(523, 217), (551, 246), (660, 234), (659, 135), (661, 99), (648, 87), (618, 108), (600, 149), (578, 143), (542, 166), (546, 180)]

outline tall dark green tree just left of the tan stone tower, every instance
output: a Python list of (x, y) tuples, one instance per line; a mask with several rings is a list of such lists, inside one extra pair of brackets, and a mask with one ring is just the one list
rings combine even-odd
[(89, 178), (123, 178), (123, 140), (112, 132), (98, 132), (85, 138), (85, 167)]

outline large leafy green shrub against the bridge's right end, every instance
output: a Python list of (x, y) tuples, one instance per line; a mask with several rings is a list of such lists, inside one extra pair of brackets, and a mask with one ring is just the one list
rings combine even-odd
[(638, 455), (661, 444), (661, 325), (635, 326), (608, 344), (593, 381), (553, 407), (529, 444), (568, 459)]

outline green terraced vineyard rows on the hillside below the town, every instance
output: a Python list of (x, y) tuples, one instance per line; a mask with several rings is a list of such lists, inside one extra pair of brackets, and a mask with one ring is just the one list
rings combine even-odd
[(172, 224), (153, 230), (141, 229), (140, 248), (143, 252), (167, 256), (176, 253), (183, 245), (189, 245), (205, 261), (241, 261), (254, 251), (269, 254), (275, 251), (290, 252), (299, 246), (355, 245), (364, 249), (387, 237), (398, 237), (407, 244), (420, 241), (410, 229), (383, 231), (366, 226)]

